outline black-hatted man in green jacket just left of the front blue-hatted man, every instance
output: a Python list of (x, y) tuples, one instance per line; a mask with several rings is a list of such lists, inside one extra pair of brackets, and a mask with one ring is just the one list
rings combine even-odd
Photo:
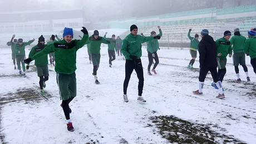
[[(45, 38), (43, 37), (43, 35), (41, 35), (38, 38), (38, 43), (36, 46), (31, 48), (31, 51), (29, 52), (28, 57), (31, 58), (33, 57), (36, 53), (41, 52), (43, 50), (43, 48), (45, 48), (47, 46), (47, 44), (45, 44)], [(39, 81), (39, 86), (41, 89), (41, 93), (45, 93), (45, 90), (43, 90), (43, 88), (46, 87), (45, 82), (48, 81), (49, 79), (49, 71), (48, 71), (48, 58), (47, 55), (42, 56), (38, 59), (35, 59), (35, 66), (37, 69), (37, 76), (40, 78)], [(27, 64), (27, 70), (29, 69), (29, 63)]]

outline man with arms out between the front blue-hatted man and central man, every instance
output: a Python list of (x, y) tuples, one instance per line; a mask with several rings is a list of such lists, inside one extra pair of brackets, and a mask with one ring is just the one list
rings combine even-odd
[[(95, 78), (95, 83), (100, 84), (97, 77), (97, 70), (100, 66), (100, 46), (101, 43), (109, 44), (110, 41), (107, 41), (106, 38), (99, 36), (99, 31), (95, 30), (92, 36), (89, 37), (89, 41), (86, 44), (90, 44), (90, 52), (93, 64), (93, 73), (92, 75)], [(87, 45), (88, 46), (88, 45)]]

